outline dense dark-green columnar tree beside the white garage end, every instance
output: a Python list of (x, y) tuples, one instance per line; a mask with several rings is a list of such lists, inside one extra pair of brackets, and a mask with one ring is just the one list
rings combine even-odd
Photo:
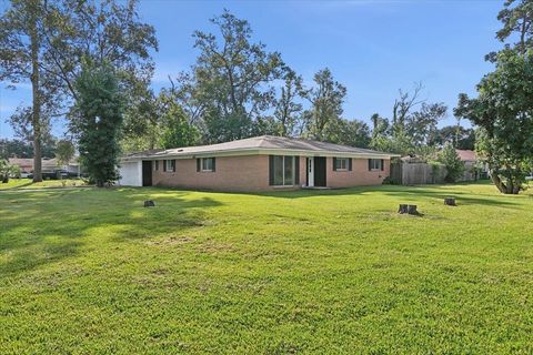
[(124, 98), (115, 70), (110, 64), (86, 61), (74, 82), (76, 120), (80, 158), (97, 186), (118, 180), (120, 132)]

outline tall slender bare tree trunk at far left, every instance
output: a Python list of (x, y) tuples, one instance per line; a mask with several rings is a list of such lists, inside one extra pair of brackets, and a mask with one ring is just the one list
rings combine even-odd
[(33, 182), (42, 181), (41, 159), (41, 98), (39, 91), (39, 36), (37, 33), (37, 9), (32, 7), (31, 16), (31, 89), (32, 89), (32, 116), (33, 129)]

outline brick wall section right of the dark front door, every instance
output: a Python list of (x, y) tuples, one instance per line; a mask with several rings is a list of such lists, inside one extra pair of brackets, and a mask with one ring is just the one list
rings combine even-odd
[(326, 183), (329, 187), (340, 189), (362, 185), (380, 185), (390, 174), (391, 161), (383, 160), (384, 170), (369, 171), (368, 159), (352, 159), (352, 171), (333, 171), (333, 158), (326, 159)]

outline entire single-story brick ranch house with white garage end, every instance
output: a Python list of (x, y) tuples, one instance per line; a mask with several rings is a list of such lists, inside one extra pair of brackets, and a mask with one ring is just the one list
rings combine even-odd
[(123, 156), (121, 185), (223, 191), (378, 185), (395, 154), (262, 135)]

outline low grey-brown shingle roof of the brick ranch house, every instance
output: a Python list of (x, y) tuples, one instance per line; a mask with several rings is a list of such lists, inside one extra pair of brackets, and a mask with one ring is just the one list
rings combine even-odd
[(165, 156), (180, 156), (180, 155), (194, 155), (205, 153), (224, 153), (224, 152), (240, 152), (240, 151), (302, 151), (302, 152), (329, 152), (329, 153), (344, 153), (354, 155), (383, 155), (395, 156), (395, 154), (389, 154), (378, 152), (369, 149), (354, 148), (348, 145), (340, 145), (333, 143), (318, 142), (304, 139), (293, 139), (273, 135), (261, 135), (232, 142), (185, 146), (161, 151), (145, 151), (140, 153), (133, 153), (124, 156), (124, 159), (135, 158), (165, 158)]

